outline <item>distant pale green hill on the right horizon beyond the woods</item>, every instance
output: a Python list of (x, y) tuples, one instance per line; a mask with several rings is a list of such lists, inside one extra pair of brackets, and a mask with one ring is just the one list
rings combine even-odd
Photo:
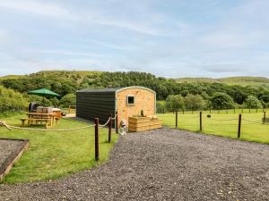
[(206, 82), (206, 83), (224, 83), (228, 85), (240, 85), (240, 86), (263, 86), (269, 88), (269, 79), (265, 77), (229, 77), (221, 79), (212, 78), (179, 78), (176, 79), (178, 83), (188, 82)]

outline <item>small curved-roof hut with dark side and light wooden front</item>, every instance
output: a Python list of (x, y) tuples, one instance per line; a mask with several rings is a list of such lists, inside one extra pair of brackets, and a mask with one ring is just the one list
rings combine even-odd
[[(98, 117), (100, 123), (108, 121), (109, 113), (117, 112), (118, 125), (128, 117), (156, 113), (156, 93), (150, 88), (85, 88), (76, 92), (76, 116), (93, 121)], [(114, 125), (115, 126), (115, 125)]]

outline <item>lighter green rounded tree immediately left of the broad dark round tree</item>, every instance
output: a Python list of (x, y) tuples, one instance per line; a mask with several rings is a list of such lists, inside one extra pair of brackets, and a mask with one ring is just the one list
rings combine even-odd
[(184, 104), (189, 110), (202, 110), (204, 108), (204, 99), (200, 95), (188, 94), (184, 98)]

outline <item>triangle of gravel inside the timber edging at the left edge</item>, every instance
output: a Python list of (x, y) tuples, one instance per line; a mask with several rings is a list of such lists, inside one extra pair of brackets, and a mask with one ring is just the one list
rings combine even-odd
[(13, 151), (23, 144), (19, 140), (0, 139), (0, 167)]

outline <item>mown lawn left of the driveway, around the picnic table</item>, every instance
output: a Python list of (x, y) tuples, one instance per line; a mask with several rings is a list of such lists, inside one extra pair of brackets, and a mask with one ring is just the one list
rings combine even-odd
[[(10, 125), (21, 124), (23, 115), (1, 118)], [(54, 129), (79, 128), (85, 123), (62, 119)], [(39, 127), (40, 128), (40, 127)], [(0, 138), (28, 138), (30, 148), (6, 175), (4, 183), (52, 180), (71, 172), (78, 172), (98, 163), (94, 160), (94, 128), (73, 131), (28, 131), (0, 128)], [(108, 159), (110, 149), (117, 141), (112, 133), (108, 144), (108, 129), (100, 130), (100, 161)]]

